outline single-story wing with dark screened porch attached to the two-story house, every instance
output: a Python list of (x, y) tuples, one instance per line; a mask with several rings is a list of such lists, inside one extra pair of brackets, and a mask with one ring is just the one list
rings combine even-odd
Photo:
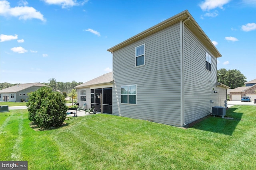
[[(113, 88), (113, 73), (103, 74), (93, 80), (85, 82), (75, 87), (78, 91), (79, 107), (86, 104), (86, 109), (95, 105), (95, 110), (102, 113), (112, 114), (112, 88)], [(100, 106), (102, 94), (102, 107)]]

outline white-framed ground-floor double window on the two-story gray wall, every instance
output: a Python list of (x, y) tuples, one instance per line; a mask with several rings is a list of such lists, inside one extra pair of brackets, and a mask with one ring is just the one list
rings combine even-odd
[(121, 86), (121, 103), (136, 104), (137, 86)]

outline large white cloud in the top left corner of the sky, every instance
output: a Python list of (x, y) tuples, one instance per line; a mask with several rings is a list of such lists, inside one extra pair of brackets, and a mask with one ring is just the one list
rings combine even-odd
[[(28, 5), (26, 1), (20, 3), (19, 5)], [(0, 1), (0, 15), (8, 17), (14, 16), (19, 17), (19, 20), (28, 20), (28, 19), (38, 19), (41, 21), (46, 21), (44, 16), (33, 7), (28, 6), (16, 6), (14, 8), (10, 7), (10, 2), (6, 0)]]

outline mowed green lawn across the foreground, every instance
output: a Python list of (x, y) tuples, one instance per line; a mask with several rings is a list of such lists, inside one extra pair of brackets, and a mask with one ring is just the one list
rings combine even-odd
[(226, 116), (184, 129), (96, 114), (35, 131), (26, 109), (10, 110), (0, 113), (0, 160), (27, 160), (30, 170), (256, 169), (256, 106)]

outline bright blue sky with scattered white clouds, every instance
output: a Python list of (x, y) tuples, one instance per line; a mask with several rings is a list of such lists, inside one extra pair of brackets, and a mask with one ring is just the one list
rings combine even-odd
[(256, 0), (0, 0), (0, 83), (86, 82), (110, 47), (188, 10), (222, 54), (256, 78)]

